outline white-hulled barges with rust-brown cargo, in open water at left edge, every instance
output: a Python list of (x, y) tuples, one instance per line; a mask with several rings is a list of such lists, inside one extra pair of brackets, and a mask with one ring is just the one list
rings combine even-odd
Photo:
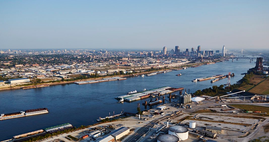
[(15, 113), (1, 114), (0, 120), (23, 117), (23, 116), (30, 116), (30, 115), (37, 115), (37, 114), (43, 114), (43, 113), (48, 113), (48, 109), (38, 108), (38, 109), (29, 109), (26, 111), (20, 111), (20, 112), (15, 112)]

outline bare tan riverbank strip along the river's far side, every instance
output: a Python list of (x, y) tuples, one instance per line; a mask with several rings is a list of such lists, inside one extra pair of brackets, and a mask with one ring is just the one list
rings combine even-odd
[[(220, 62), (220, 61), (216, 61), (216, 62)], [(160, 70), (152, 70), (152, 71), (149, 71), (149, 72), (139, 72), (138, 73), (135, 73), (135, 74), (125, 74), (125, 75), (116, 75), (116, 76), (100, 76), (100, 77), (97, 77), (97, 78), (90, 78), (90, 79), (81, 79), (81, 80), (72, 80), (72, 81), (61, 81), (61, 82), (44, 82), (44, 83), (32, 83), (32, 84), (25, 84), (25, 85), (18, 85), (18, 86), (12, 86), (12, 87), (5, 87), (5, 88), (0, 88), (0, 91), (1, 90), (11, 90), (11, 89), (21, 89), (22, 87), (27, 87), (27, 86), (36, 86), (36, 85), (45, 85), (45, 84), (48, 84), (48, 85), (60, 85), (60, 84), (70, 84), (70, 83), (74, 83), (74, 82), (77, 82), (77, 81), (89, 81), (89, 80), (97, 80), (97, 79), (102, 79), (104, 77), (132, 77), (134, 75), (141, 75), (141, 74), (149, 74), (149, 73), (153, 73), (153, 72), (156, 72), (156, 71), (164, 71), (164, 70), (168, 70), (168, 69), (175, 69), (175, 68), (181, 68), (181, 67), (190, 67), (190, 66), (193, 66), (193, 65), (207, 65), (207, 62), (204, 62), (204, 63), (189, 63), (189, 64), (185, 64), (185, 65), (181, 65), (181, 66), (177, 66), (177, 67), (172, 67), (172, 68), (166, 68), (166, 69), (160, 69)]]

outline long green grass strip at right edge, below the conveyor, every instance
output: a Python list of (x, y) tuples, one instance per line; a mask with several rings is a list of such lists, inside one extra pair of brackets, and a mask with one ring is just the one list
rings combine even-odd
[(269, 107), (267, 106), (259, 106), (259, 105), (230, 105), (239, 109), (246, 109), (248, 111), (261, 111), (262, 113), (269, 113)]

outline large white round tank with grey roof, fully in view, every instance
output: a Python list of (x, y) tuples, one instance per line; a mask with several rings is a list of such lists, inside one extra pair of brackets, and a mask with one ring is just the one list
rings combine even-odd
[(189, 137), (189, 129), (176, 125), (169, 128), (168, 134), (177, 136), (180, 141), (187, 140)]

